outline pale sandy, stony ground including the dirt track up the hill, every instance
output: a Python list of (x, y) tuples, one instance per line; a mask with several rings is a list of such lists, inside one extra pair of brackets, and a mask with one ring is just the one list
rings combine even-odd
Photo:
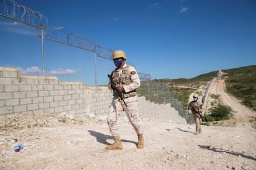
[[(195, 126), (142, 119), (145, 147), (126, 118), (119, 120), (123, 150), (113, 143), (105, 118), (11, 115), (0, 118), (0, 169), (256, 169), (255, 112), (226, 94), (224, 81), (211, 92), (236, 110), (222, 126)], [(20, 152), (16, 145), (23, 144)]]

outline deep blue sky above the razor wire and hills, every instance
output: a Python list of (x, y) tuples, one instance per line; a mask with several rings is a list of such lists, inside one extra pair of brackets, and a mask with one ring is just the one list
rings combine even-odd
[[(256, 64), (254, 0), (16, 2), (39, 11), (48, 18), (48, 26), (124, 50), (127, 62), (151, 79), (194, 78)], [(105, 84), (114, 68), (113, 62), (104, 63), (100, 67), (107, 71), (99, 71), (104, 78), (98, 84)], [(95, 83), (94, 78), (85, 81)]]

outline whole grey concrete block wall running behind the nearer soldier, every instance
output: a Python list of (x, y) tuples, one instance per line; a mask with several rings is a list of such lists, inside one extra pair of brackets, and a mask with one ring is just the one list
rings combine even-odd
[[(24, 76), (15, 68), (0, 67), (0, 115), (54, 113), (107, 116), (112, 92), (106, 86), (59, 82), (56, 77)], [(187, 124), (170, 104), (160, 105), (139, 97), (141, 118), (170, 119)]]

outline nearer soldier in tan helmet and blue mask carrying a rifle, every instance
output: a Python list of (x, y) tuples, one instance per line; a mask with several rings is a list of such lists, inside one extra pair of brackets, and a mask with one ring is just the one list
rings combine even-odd
[[(121, 97), (119, 97), (117, 92), (114, 91), (113, 100), (111, 105), (109, 106), (109, 113), (107, 118), (109, 130), (111, 132), (111, 135), (114, 137), (114, 144), (108, 145), (106, 149), (122, 149), (122, 142), (117, 127), (117, 118), (122, 113), (122, 111), (126, 112), (127, 118), (137, 132), (139, 140), (137, 148), (143, 148), (144, 138), (142, 127), (139, 121), (138, 95), (136, 92), (136, 89), (140, 87), (139, 75), (134, 67), (125, 63), (125, 60), (127, 58), (124, 51), (118, 50), (113, 52), (112, 59), (114, 60), (114, 65), (116, 65), (116, 69), (111, 73), (111, 76), (114, 83), (116, 84), (116, 87), (121, 92), (124, 102), (126, 102), (127, 106), (121, 100)], [(108, 87), (110, 90), (113, 89), (110, 81)]]

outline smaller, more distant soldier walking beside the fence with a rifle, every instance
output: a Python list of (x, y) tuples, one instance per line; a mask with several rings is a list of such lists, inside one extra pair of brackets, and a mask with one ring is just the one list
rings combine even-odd
[[(201, 119), (200, 115), (202, 114), (202, 103), (198, 100), (198, 94), (193, 95), (193, 100), (189, 103), (188, 113), (193, 115), (195, 121), (195, 135), (202, 133), (201, 129)], [(190, 112), (191, 110), (191, 112)]]

